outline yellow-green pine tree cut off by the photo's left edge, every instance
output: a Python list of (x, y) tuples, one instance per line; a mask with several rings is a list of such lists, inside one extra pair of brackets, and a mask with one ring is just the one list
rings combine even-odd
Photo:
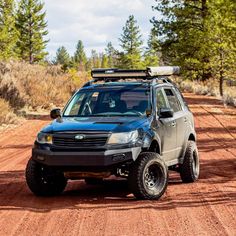
[(13, 0), (0, 1), (0, 59), (15, 57), (15, 44), (18, 32), (15, 28)]

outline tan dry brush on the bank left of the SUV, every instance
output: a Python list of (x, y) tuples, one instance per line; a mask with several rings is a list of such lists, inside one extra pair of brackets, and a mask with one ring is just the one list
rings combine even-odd
[(64, 73), (58, 66), (0, 62), (0, 125), (10, 121), (13, 112), (20, 114), (21, 110), (49, 110), (63, 106), (88, 79), (86, 73)]

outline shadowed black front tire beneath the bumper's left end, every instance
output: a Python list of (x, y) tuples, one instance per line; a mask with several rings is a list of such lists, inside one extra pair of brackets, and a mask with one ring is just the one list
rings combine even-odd
[(37, 196), (59, 195), (67, 184), (62, 172), (44, 166), (32, 158), (28, 161), (25, 177), (29, 189)]

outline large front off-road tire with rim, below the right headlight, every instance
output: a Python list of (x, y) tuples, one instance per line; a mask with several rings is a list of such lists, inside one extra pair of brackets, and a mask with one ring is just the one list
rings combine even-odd
[[(154, 182), (153, 187), (150, 186), (151, 182), (149, 183), (151, 176), (153, 176), (153, 181), (151, 181)], [(141, 153), (130, 167), (128, 177), (128, 186), (134, 196), (137, 199), (159, 199), (164, 194), (167, 185), (168, 168), (165, 162), (157, 153)]]

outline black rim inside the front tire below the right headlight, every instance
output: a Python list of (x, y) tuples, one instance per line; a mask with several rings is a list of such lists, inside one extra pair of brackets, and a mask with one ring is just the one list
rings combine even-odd
[(160, 190), (162, 188), (163, 170), (158, 164), (151, 164), (144, 171), (144, 185), (148, 190)]

